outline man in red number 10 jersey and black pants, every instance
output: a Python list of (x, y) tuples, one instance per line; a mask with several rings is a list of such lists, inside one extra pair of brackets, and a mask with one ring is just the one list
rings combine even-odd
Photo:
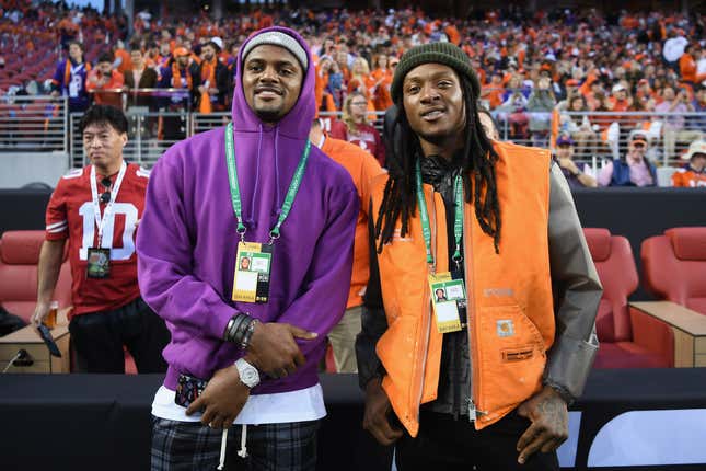
[(121, 111), (93, 106), (81, 120), (81, 134), (91, 164), (63, 175), (47, 206), (32, 322), (38, 325), (48, 313), (68, 241), (69, 331), (78, 369), (125, 372), (125, 345), (139, 372), (165, 371), (161, 352), (170, 334), (137, 284), (135, 234), (149, 172), (123, 159), (127, 119)]

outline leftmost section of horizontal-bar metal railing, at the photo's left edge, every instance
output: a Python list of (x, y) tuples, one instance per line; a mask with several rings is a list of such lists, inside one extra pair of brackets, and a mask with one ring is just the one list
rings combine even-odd
[(0, 152), (66, 152), (68, 99), (0, 96)]

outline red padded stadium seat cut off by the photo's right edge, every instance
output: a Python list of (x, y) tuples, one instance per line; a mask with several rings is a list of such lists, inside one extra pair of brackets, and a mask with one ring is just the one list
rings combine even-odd
[(673, 228), (643, 241), (645, 287), (706, 314), (706, 227)]

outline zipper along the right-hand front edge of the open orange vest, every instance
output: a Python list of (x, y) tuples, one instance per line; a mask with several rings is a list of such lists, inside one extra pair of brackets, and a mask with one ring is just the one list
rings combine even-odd
[[(472, 241), (473, 241), (473, 219), (470, 216), (474, 216), (473, 214), (470, 214), (471, 211), (467, 210), (467, 205), (465, 203), (465, 197), (464, 197), (464, 221), (465, 221), (465, 227), (464, 229), (467, 229), (467, 234), (465, 233), (466, 231), (464, 230), (463, 233), (463, 248), (464, 248), (464, 255), (465, 255), (465, 263), (463, 264), (463, 274), (465, 277), (466, 282), (466, 296), (467, 296), (467, 302), (466, 302), (466, 317), (467, 319), (467, 334), (468, 334), (468, 363), (470, 368), (471, 368), (471, 397), (468, 398), (468, 421), (470, 422), (475, 422), (478, 418), (478, 415), (486, 415), (487, 412), (485, 411), (479, 411), (477, 407), (479, 404), (476, 403), (478, 399), (478, 383), (479, 383), (479, 375), (477, 372), (477, 369), (474, 368), (474, 365), (477, 365), (478, 361), (476, 360), (476, 352), (477, 352), (477, 335), (476, 335), (476, 322), (475, 322), (475, 279), (473, 278), (474, 271), (473, 271), (473, 249), (472, 249)], [(468, 277), (468, 273), (471, 273), (471, 277)]]

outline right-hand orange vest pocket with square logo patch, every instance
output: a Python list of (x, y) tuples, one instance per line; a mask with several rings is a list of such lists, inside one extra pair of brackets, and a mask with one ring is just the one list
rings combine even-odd
[(482, 307), (476, 329), (479, 409), (513, 407), (541, 388), (544, 341), (519, 306)]

